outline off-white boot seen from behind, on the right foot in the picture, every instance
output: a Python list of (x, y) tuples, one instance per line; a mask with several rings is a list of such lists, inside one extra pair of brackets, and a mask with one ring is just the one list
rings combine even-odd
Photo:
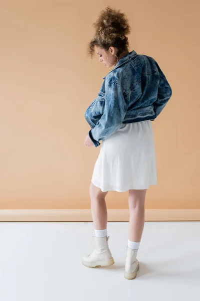
[(127, 256), (125, 261), (125, 271), (124, 271), (124, 278), (131, 280), (136, 277), (136, 273), (139, 269), (139, 263), (136, 259), (137, 250), (133, 250), (127, 247)]

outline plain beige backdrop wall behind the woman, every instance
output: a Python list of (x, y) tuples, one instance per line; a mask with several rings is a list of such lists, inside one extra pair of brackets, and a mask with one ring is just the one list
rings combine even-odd
[[(132, 28), (129, 51), (152, 56), (172, 97), (152, 122), (157, 185), (147, 209), (199, 207), (198, 1), (0, 1), (0, 209), (88, 209), (100, 147), (84, 146), (84, 111), (110, 69), (86, 57), (107, 5)], [(127, 192), (109, 192), (126, 209)]]

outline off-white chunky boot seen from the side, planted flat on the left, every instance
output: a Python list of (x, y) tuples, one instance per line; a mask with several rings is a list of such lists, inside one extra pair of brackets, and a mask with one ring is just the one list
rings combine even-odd
[(87, 267), (108, 266), (114, 264), (108, 247), (109, 236), (96, 237), (94, 235), (94, 250), (91, 254), (82, 257), (82, 264)]

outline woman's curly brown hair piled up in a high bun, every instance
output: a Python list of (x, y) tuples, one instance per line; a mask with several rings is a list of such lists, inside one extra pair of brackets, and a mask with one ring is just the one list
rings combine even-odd
[(94, 46), (108, 50), (110, 46), (118, 49), (117, 56), (128, 50), (128, 38), (130, 26), (126, 16), (120, 10), (111, 9), (109, 6), (99, 13), (92, 24), (95, 29), (93, 39), (88, 43), (87, 55), (94, 55)]

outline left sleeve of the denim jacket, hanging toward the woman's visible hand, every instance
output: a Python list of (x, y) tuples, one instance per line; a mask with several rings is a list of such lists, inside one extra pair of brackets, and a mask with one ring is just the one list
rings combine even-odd
[(100, 145), (99, 140), (106, 139), (121, 127), (127, 109), (121, 86), (116, 82), (112, 82), (106, 87), (104, 101), (101, 118), (88, 132), (95, 147)]

